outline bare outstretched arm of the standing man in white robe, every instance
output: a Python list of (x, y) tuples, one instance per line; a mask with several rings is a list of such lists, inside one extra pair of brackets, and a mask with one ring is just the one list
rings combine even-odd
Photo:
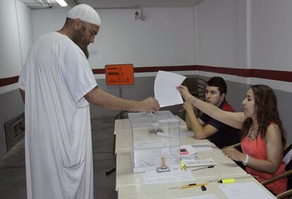
[(85, 95), (85, 99), (90, 104), (95, 104), (107, 109), (122, 109), (128, 111), (152, 111), (156, 113), (159, 110), (159, 103), (153, 97), (147, 97), (145, 100), (134, 101), (126, 100), (121, 97), (111, 95), (101, 88), (93, 88)]

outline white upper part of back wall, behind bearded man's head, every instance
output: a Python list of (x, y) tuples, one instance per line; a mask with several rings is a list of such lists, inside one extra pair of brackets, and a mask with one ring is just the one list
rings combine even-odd
[[(35, 37), (59, 30), (67, 10), (32, 11)], [(102, 25), (90, 44), (90, 65), (132, 63), (170, 66), (194, 63), (193, 8), (144, 8), (146, 20), (135, 20), (134, 9), (98, 10)]]

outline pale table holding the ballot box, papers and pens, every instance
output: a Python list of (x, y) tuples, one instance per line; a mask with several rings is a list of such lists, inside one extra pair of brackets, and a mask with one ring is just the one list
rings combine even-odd
[[(181, 120), (181, 119), (180, 119)], [(181, 132), (186, 132), (185, 121), (181, 120)], [(171, 182), (163, 184), (147, 184), (144, 181), (143, 173), (133, 173), (131, 162), (132, 135), (130, 131), (130, 122), (128, 119), (119, 119), (115, 121), (116, 134), (116, 191), (118, 198), (183, 198), (193, 195), (201, 195), (200, 187), (188, 188), (185, 190), (169, 189), (174, 186), (183, 186), (193, 181)], [(255, 182), (265, 192), (274, 198), (264, 186), (257, 180), (247, 174), (241, 167), (226, 157), (218, 147), (209, 140), (196, 140), (192, 133), (181, 137), (181, 145), (208, 145), (212, 150), (201, 151), (197, 153), (200, 159), (211, 157), (217, 165), (210, 169), (201, 169), (192, 171), (196, 183), (205, 183), (207, 181), (218, 181), (219, 179), (235, 178), (236, 182)], [(193, 167), (192, 167), (193, 168)], [(192, 169), (190, 168), (190, 169)], [(243, 178), (243, 179), (237, 179)], [(207, 191), (204, 194), (214, 193), (218, 198), (227, 198), (219, 183), (209, 183)]]

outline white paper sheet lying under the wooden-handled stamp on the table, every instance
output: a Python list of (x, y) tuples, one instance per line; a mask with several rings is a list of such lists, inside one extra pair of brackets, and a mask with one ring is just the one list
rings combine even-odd
[(144, 181), (149, 183), (169, 183), (177, 181), (195, 181), (195, 178), (190, 170), (171, 169), (171, 171), (157, 172), (145, 171)]

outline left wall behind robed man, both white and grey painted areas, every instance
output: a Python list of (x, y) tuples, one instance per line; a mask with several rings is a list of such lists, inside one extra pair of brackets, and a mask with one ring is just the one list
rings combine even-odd
[[(18, 76), (32, 44), (30, 8), (18, 0), (0, 1), (0, 78)], [(24, 111), (17, 84), (0, 88), (0, 156), (6, 152), (4, 123)]]

